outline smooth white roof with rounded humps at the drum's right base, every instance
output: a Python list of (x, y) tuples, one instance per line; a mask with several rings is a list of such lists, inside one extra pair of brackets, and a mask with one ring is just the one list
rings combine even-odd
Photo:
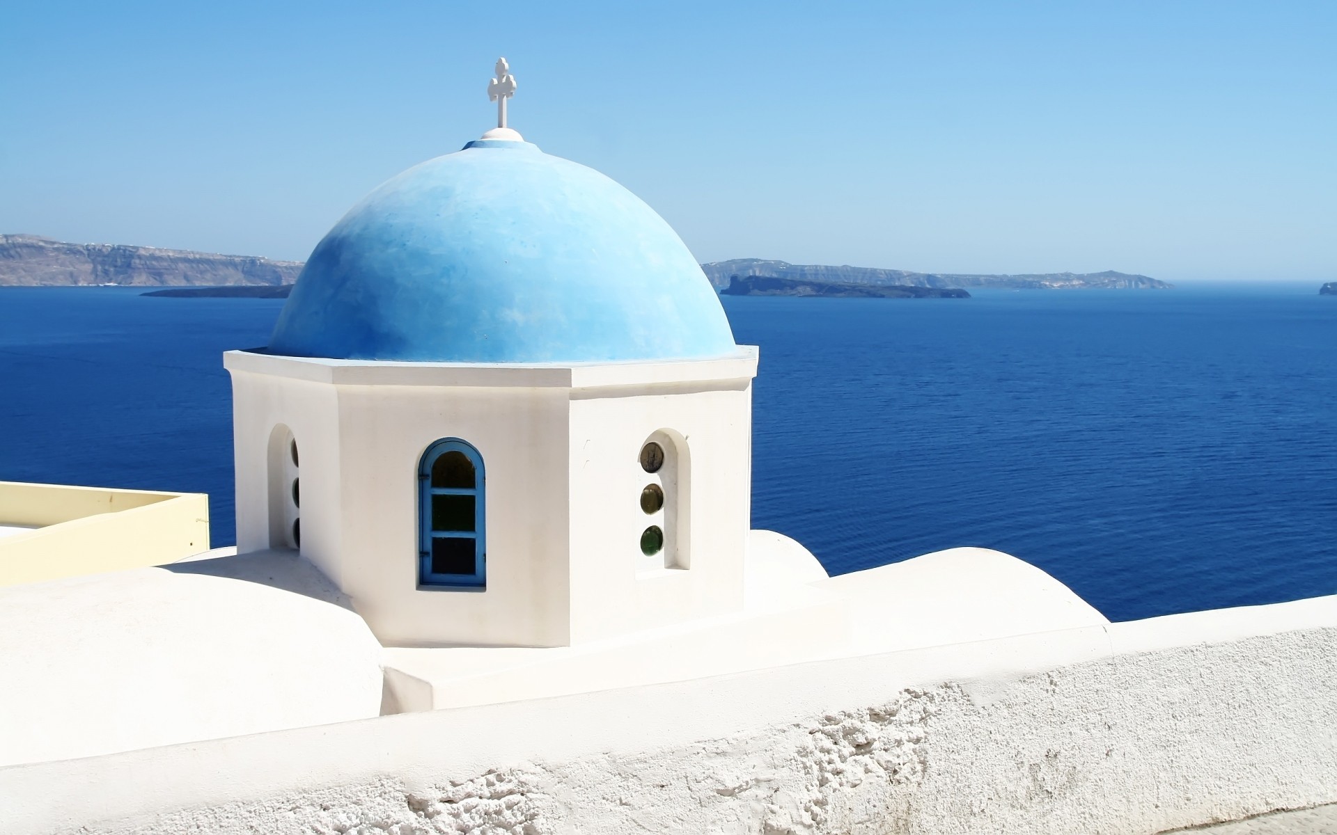
[(828, 578), (801, 544), (753, 530), (745, 565), (738, 612), (574, 647), (388, 648), (388, 679), (402, 709), (440, 709), (1110, 623), (1034, 565), (983, 548)]

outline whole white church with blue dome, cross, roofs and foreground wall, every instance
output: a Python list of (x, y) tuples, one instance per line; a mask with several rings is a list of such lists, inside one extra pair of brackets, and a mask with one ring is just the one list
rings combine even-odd
[(757, 350), (650, 207), (504, 126), (513, 90), (499, 63), (503, 124), (354, 206), (226, 354), (237, 554), (0, 589), (0, 828), (1151, 832), (1337, 800), (1332, 599), (1110, 624), (997, 552), (828, 577), (750, 530)]

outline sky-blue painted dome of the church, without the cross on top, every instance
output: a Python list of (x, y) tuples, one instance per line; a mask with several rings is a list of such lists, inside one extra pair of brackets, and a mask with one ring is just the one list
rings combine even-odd
[(737, 350), (663, 218), (525, 142), (479, 140), (368, 195), (312, 253), (269, 353), (615, 362)]

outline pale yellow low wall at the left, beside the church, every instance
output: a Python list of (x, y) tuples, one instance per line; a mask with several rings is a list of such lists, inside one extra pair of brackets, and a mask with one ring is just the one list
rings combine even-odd
[(209, 550), (209, 497), (0, 481), (0, 585), (163, 565)]

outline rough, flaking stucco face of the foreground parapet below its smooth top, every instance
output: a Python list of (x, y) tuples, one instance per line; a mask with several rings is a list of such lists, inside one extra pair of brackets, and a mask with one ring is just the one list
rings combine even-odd
[(1337, 800), (1334, 659), (1337, 629), (1305, 629), (564, 762), (456, 771), (444, 744), (440, 768), (408, 779), (64, 831), (1150, 834)]

